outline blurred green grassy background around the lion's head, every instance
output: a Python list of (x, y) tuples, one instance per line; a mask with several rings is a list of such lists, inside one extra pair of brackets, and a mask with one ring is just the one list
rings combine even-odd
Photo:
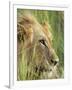
[[(43, 23), (47, 21), (51, 27), (51, 32), (53, 35), (53, 48), (55, 49), (58, 57), (59, 57), (59, 71), (60, 78), (64, 77), (64, 11), (50, 11), (50, 10), (24, 10), (17, 9), (17, 17), (20, 15), (24, 15), (25, 12), (30, 12), (35, 18), (39, 21), (39, 23)], [(23, 57), (20, 57), (22, 59)], [(20, 60), (21, 61), (21, 60)], [(26, 79), (25, 72), (26, 66), (24, 66), (23, 62), (19, 62), (17, 68), (18, 71), (18, 80)]]

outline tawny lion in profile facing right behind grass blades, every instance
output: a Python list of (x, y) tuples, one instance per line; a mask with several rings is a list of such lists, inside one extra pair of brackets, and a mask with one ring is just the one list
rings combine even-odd
[(52, 34), (47, 22), (40, 24), (32, 15), (17, 21), (17, 79), (59, 78), (59, 58), (52, 47)]

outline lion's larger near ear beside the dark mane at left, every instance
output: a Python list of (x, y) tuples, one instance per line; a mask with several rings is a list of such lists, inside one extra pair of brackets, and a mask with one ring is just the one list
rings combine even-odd
[(33, 41), (33, 29), (31, 24), (28, 21), (22, 21), (17, 24), (17, 33), (21, 36), (21, 39), (24, 40), (24, 46), (29, 47)]

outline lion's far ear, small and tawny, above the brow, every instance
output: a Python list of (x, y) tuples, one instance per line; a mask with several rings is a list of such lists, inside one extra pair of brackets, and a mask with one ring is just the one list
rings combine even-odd
[(43, 32), (45, 33), (45, 35), (52, 41), (53, 37), (52, 37), (51, 31), (49, 30), (50, 26), (49, 26), (48, 22), (45, 21), (42, 24), (42, 26), (43, 26)]

